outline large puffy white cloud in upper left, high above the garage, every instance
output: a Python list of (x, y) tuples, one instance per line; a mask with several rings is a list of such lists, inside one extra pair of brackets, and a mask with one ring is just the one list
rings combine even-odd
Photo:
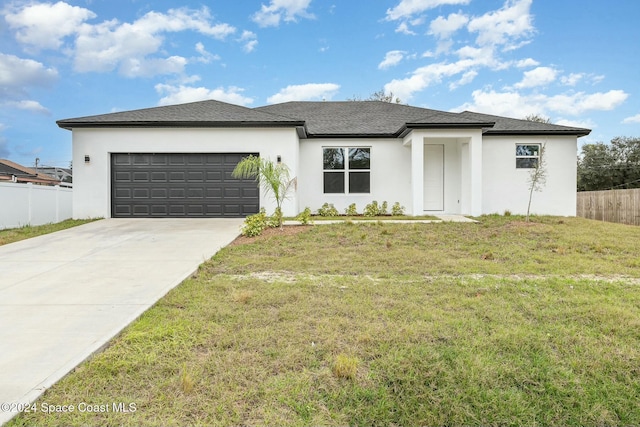
[(149, 12), (133, 23), (105, 21), (83, 24), (78, 31), (75, 69), (107, 72), (118, 69), (127, 77), (181, 73), (187, 63), (180, 56), (148, 58), (161, 50), (163, 33), (196, 31), (224, 39), (236, 29), (228, 24), (209, 24), (209, 10), (170, 9), (166, 14)]

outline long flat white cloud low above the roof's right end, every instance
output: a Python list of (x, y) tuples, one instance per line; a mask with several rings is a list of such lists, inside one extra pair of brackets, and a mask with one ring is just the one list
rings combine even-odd
[(612, 110), (629, 95), (621, 90), (586, 94), (567, 93), (554, 96), (539, 93), (523, 95), (516, 91), (496, 92), (475, 90), (473, 102), (465, 103), (456, 110), (481, 111), (507, 117), (525, 117), (528, 114), (549, 115), (549, 113), (577, 116), (587, 111)]

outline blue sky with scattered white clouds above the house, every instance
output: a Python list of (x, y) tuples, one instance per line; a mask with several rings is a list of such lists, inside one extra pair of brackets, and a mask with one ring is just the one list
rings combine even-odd
[(0, 158), (66, 166), (64, 118), (367, 98), (640, 137), (640, 1), (67, 0), (0, 5)]

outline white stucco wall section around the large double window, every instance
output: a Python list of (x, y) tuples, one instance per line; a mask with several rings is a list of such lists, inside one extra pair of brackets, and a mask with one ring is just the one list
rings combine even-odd
[[(322, 148), (371, 147), (370, 194), (324, 194)], [(298, 200), (300, 210), (305, 207), (315, 212), (324, 203), (333, 205), (343, 213), (351, 203), (358, 212), (377, 200), (387, 201), (389, 210), (395, 202), (411, 209), (411, 150), (398, 139), (303, 139), (300, 141), (300, 171), (298, 173)]]

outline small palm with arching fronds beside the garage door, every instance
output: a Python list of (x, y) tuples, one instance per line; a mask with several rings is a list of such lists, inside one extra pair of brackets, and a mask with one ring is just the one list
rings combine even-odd
[(250, 155), (236, 165), (231, 176), (255, 178), (265, 193), (271, 193), (276, 202), (274, 217), (277, 225), (282, 227), (282, 202), (296, 183), (296, 179), (290, 177), (287, 165)]

